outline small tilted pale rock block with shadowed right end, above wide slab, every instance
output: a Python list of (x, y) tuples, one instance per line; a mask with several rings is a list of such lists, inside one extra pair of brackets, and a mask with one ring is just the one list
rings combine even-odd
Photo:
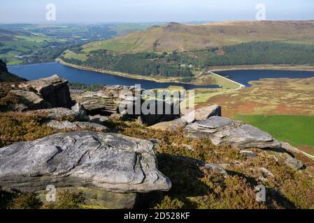
[(182, 120), (186, 123), (194, 123), (194, 121), (203, 121), (212, 116), (221, 116), (222, 108), (220, 105), (212, 105), (210, 107), (204, 107), (196, 109), (188, 114), (181, 116)]

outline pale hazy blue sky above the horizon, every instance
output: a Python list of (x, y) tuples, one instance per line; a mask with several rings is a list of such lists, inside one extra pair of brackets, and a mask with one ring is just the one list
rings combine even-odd
[(0, 23), (47, 23), (47, 3), (55, 3), (57, 23), (255, 20), (257, 3), (266, 20), (314, 19), (313, 0), (8, 0)]

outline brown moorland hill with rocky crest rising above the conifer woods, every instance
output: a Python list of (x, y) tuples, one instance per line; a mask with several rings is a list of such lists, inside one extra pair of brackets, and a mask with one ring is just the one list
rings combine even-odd
[(84, 52), (185, 52), (252, 41), (314, 44), (314, 21), (242, 21), (152, 26), (111, 40), (83, 46)]

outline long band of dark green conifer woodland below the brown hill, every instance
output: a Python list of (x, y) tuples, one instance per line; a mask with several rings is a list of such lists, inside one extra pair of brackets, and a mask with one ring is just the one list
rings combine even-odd
[[(76, 48), (76, 53), (81, 53)], [(105, 49), (87, 54), (86, 61), (62, 59), (78, 66), (88, 66), (103, 70), (127, 72), (136, 75), (161, 75), (164, 77), (182, 77), (191, 79), (194, 68), (210, 66), (233, 66), (255, 64), (311, 64), (314, 66), (314, 45), (280, 42), (251, 42), (224, 47), (212, 47), (194, 52), (176, 52), (156, 54), (138, 52), (135, 54), (117, 54)], [(185, 65), (185, 66), (183, 66)]]

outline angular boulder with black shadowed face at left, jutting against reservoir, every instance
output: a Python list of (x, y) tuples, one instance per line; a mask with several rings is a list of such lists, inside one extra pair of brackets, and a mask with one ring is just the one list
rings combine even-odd
[(58, 75), (25, 82), (20, 84), (19, 88), (40, 93), (43, 100), (49, 102), (52, 107), (71, 108), (74, 105), (71, 100), (68, 81)]

